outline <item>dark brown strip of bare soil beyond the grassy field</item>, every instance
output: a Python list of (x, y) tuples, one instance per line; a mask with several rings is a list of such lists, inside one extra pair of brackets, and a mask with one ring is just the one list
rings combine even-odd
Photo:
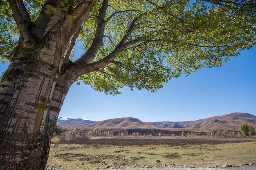
[(88, 140), (59, 141), (60, 144), (85, 145), (115, 145), (115, 146), (143, 146), (143, 145), (202, 145), (227, 144), (256, 141), (256, 137), (108, 137)]

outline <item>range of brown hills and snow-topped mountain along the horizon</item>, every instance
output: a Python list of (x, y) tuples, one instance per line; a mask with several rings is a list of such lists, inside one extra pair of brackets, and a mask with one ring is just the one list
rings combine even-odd
[(102, 128), (102, 129), (154, 129), (154, 128), (189, 128), (189, 129), (222, 129), (238, 130), (242, 123), (251, 124), (256, 128), (256, 116), (248, 113), (230, 113), (222, 116), (209, 117), (195, 121), (161, 121), (143, 122), (133, 117), (90, 121), (85, 119), (62, 118), (58, 119), (63, 128)]

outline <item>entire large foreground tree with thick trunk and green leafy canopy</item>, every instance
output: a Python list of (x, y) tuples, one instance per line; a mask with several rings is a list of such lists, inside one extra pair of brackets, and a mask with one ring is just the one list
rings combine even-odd
[[(256, 43), (256, 4), (189, 0), (1, 0), (0, 169), (43, 170), (77, 80), (155, 92)], [(75, 58), (76, 40), (85, 53)]]

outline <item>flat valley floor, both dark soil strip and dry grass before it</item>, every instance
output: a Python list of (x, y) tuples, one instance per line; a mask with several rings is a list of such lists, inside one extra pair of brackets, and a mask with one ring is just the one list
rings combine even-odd
[(250, 163), (256, 163), (255, 148), (256, 137), (101, 137), (55, 140), (46, 170), (223, 170), (225, 164), (232, 166), (225, 168), (227, 170), (255, 170), (256, 165), (249, 166)]

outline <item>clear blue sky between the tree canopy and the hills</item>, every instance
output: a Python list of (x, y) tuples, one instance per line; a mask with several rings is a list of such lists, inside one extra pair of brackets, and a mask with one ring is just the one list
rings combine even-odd
[[(7, 66), (0, 64), (0, 73)], [(256, 115), (256, 46), (231, 57), (222, 67), (174, 78), (156, 93), (121, 91), (113, 97), (74, 83), (59, 116), (96, 121), (135, 117), (149, 122), (198, 120), (234, 112)]]

